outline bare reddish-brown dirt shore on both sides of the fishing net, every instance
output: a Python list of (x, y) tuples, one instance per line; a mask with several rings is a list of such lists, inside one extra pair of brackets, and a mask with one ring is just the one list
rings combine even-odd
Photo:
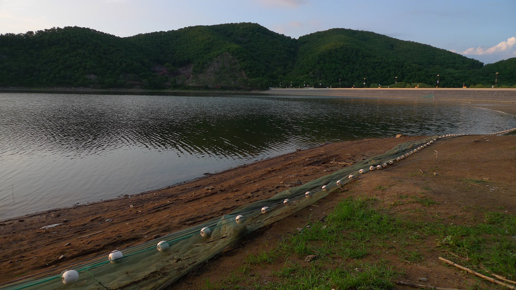
[[(497, 106), (507, 108), (507, 104)], [(510, 108), (514, 110), (514, 106)], [(13, 281), (101, 254), (107, 256), (114, 249), (220, 217), (237, 206), (271, 197), (294, 184), (421, 138), (325, 144), (140, 195), (0, 221), (0, 281)], [(445, 224), (474, 224), (483, 219), (483, 211), (516, 215), (516, 135), (471, 135), (439, 140), (396, 165), (364, 174), (346, 185), (347, 191), (332, 194), (316, 206), (252, 233), (224, 254), (191, 271), (171, 289), (200, 289), (206, 279), (216, 283), (245, 263), (250, 253), (274, 247), (280, 238), (296, 233), (310, 219), (324, 217), (349, 196), (374, 197), (385, 211), (418, 221), (434, 221), (439, 217)], [(486, 185), (465, 180), (489, 182)], [(378, 186), (385, 190), (376, 190)], [(420, 206), (417, 203), (397, 204), (400, 195), (428, 197), (436, 204), (421, 215), (414, 211)], [(164, 219), (166, 215), (168, 218)], [(59, 225), (43, 229), (52, 224)], [(473, 279), (445, 266), (435, 253), (426, 253), (424, 262), (418, 265), (389, 257), (377, 259), (388, 259), (393, 267), (404, 269), (404, 281), (411, 283), (426, 277), (429, 284), (461, 288), (470, 285)], [(262, 276), (265, 275), (270, 275), (270, 269), (264, 270)], [(398, 289), (409, 288), (398, 286)]]

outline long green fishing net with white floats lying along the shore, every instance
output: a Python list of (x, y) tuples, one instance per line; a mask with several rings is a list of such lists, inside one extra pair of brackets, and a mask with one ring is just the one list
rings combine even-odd
[(106, 254), (68, 265), (68, 271), (46, 272), (46, 276), (20, 280), (0, 286), (0, 289), (165, 289), (241, 237), (292, 215), (335, 190), (341, 190), (345, 183), (360, 174), (381, 170), (430, 146), (439, 138), (450, 136), (398, 144), (381, 155), (289, 188), (271, 198), (240, 206), (231, 214), (112, 252), (109, 257)]

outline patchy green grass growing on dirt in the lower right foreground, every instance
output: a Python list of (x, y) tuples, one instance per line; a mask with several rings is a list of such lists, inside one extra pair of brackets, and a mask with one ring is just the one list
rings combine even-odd
[[(436, 203), (412, 198), (422, 204)], [(486, 212), (480, 223), (448, 225), (433, 219), (419, 222), (398, 218), (377, 207), (373, 199), (346, 199), (325, 221), (312, 222), (310, 228), (287, 237), (270, 251), (249, 255), (247, 265), (230, 273), (226, 282), (214, 285), (207, 281), (206, 288), (247, 288), (252, 284), (253, 289), (280, 290), (394, 289), (394, 281), (402, 278), (404, 270), (391, 264), (425, 263), (426, 255), (451, 261), (464, 257), (458, 262), (472, 270), (486, 273), (483, 265), (498, 275), (516, 279), (516, 217)], [(434, 241), (430, 246), (429, 239)], [(307, 264), (308, 255), (315, 258)], [(393, 255), (397, 261), (384, 260), (388, 256), (393, 259)], [(277, 262), (283, 266), (271, 271), (272, 278), (263, 276), (263, 268), (260, 279), (251, 274), (256, 267)], [(271, 282), (264, 284), (264, 279)], [(478, 281), (478, 288), (485, 288), (482, 283)]]

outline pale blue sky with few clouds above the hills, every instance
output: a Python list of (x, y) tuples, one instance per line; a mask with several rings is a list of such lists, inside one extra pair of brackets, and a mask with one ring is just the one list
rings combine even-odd
[(516, 0), (0, 0), (0, 34), (79, 26), (127, 37), (239, 22), (292, 38), (373, 31), (486, 64), (516, 57)]

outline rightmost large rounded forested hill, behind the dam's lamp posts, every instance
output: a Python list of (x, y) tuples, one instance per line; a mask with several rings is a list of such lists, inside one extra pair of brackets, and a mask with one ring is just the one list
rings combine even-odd
[[(430, 45), (401, 41), (367, 31), (330, 29), (298, 40), (293, 77), (323, 86), (377, 87), (400, 83), (462, 86), (470, 71), (482, 63)], [(397, 78), (396, 78), (397, 77)], [(319, 80), (321, 82), (319, 82)], [(312, 82), (313, 83), (313, 82)]]

